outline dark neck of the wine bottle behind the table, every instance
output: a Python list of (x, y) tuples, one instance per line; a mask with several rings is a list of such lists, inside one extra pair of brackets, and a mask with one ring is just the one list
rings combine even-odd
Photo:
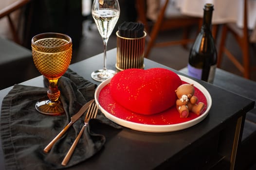
[(213, 14), (213, 4), (206, 3), (203, 8), (203, 20), (202, 20), (202, 31), (211, 31), (212, 27), (212, 14)]

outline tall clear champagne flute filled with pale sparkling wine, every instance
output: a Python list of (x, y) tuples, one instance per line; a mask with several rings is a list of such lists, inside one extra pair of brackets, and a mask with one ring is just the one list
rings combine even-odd
[(114, 70), (106, 68), (106, 52), (110, 34), (112, 33), (120, 15), (118, 0), (93, 0), (91, 15), (96, 23), (104, 45), (103, 69), (92, 72), (91, 78), (96, 81), (103, 82), (106, 79), (113, 77), (113, 75), (115, 74)]

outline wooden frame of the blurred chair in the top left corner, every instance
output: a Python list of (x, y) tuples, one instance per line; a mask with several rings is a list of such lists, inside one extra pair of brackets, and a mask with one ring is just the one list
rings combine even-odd
[(19, 9), (21, 9), (23, 6), (25, 6), (28, 2), (30, 2), (30, 0), (17, 0), (13, 3), (11, 3), (10, 5), (8, 5), (7, 7), (3, 8), (0, 10), (0, 19), (3, 17), (7, 17), (8, 18), (8, 23), (13, 35), (13, 40), (18, 43), (21, 44), (20, 39), (19, 39), (19, 35), (18, 35), (18, 29), (15, 28), (15, 24), (14, 21), (11, 17), (11, 14), (15, 11), (18, 11)]

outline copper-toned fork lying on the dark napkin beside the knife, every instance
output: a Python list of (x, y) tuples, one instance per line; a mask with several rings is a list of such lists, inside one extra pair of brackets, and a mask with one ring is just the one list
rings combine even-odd
[(72, 146), (70, 147), (68, 153), (66, 154), (65, 158), (63, 159), (61, 165), (63, 165), (63, 166), (67, 165), (67, 163), (69, 162), (69, 160), (70, 160), (70, 158), (71, 158), (71, 156), (74, 152), (74, 149), (75, 149), (80, 137), (82, 136), (82, 134), (85, 130), (85, 127), (87, 126), (89, 120), (91, 118), (96, 118), (97, 113), (98, 113), (98, 105), (95, 102), (92, 102), (90, 107), (88, 108), (87, 113), (86, 113), (86, 116), (85, 116), (85, 119), (84, 119), (84, 125), (83, 125), (82, 129), (80, 130), (78, 136), (75, 138)]

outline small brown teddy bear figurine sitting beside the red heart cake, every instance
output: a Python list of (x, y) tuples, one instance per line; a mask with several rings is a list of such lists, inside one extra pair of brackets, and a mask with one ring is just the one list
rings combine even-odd
[(181, 118), (187, 118), (189, 115), (189, 111), (200, 115), (203, 108), (204, 103), (199, 102), (198, 98), (194, 96), (195, 88), (193, 84), (183, 84), (180, 85), (176, 90), (175, 93), (178, 97), (176, 101), (176, 108), (180, 113)]

